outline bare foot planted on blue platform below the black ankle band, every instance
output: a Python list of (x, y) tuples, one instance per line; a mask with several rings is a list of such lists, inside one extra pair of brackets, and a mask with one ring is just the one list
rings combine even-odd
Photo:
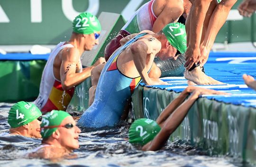
[(200, 67), (194, 68), (192, 71), (185, 70), (184, 77), (187, 80), (192, 81), (195, 84), (204, 84), (204, 85), (212, 85), (212, 84), (224, 84), (210, 76), (205, 75)]

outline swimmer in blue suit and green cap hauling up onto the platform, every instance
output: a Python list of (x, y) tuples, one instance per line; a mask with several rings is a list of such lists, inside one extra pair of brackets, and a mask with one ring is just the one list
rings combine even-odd
[(167, 84), (148, 76), (155, 56), (163, 60), (173, 58), (177, 50), (185, 51), (185, 41), (184, 25), (170, 23), (159, 33), (144, 31), (126, 42), (107, 61), (101, 72), (95, 100), (84, 111), (77, 125), (94, 128), (117, 125), (127, 101), (141, 80), (147, 85)]

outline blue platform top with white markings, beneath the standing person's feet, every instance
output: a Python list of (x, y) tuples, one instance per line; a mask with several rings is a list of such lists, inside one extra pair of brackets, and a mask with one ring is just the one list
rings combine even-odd
[[(226, 84), (199, 86), (230, 93), (230, 95), (225, 96), (207, 95), (208, 99), (256, 107), (256, 91), (248, 88), (242, 79), (243, 74), (256, 77), (256, 53), (211, 52), (205, 65), (205, 73)], [(144, 83), (140, 84), (175, 92), (182, 92), (188, 86), (184, 77), (165, 77), (162, 80), (170, 83), (170, 85), (146, 86)]]

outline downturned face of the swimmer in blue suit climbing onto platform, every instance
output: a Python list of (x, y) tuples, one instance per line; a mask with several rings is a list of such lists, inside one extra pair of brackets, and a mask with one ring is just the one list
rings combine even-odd
[(166, 42), (165, 48), (162, 48), (158, 53), (158, 57), (161, 60), (167, 60), (169, 58), (174, 58), (177, 50), (169, 42)]

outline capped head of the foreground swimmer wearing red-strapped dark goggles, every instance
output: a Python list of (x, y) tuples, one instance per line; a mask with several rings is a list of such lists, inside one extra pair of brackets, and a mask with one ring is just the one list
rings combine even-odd
[(74, 150), (79, 148), (78, 134), (81, 130), (73, 117), (65, 111), (52, 110), (42, 117), (41, 135), (43, 142), (51, 141), (62, 147)]

